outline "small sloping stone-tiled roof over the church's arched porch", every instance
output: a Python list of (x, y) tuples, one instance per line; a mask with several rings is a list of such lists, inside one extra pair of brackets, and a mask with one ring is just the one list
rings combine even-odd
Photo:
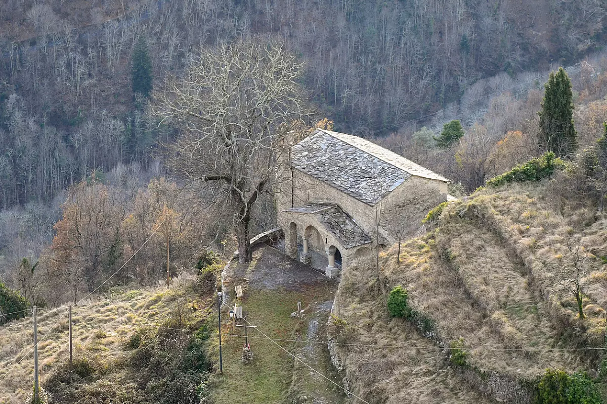
[(313, 214), (345, 248), (358, 247), (371, 242), (371, 237), (337, 205), (310, 203), (302, 207), (290, 208), (288, 211)]

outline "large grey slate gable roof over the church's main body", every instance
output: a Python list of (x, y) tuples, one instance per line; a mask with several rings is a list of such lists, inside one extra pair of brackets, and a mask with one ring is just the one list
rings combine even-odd
[(412, 175), (449, 182), (362, 137), (322, 129), (293, 146), (291, 165), (371, 206)]

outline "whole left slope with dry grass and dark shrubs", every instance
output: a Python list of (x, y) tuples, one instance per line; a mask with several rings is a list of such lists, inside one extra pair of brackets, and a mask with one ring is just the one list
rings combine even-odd
[[(198, 402), (196, 388), (211, 369), (208, 347), (216, 336), (206, 325), (216, 319), (207, 310), (215, 283), (203, 280), (185, 274), (169, 290), (116, 287), (73, 306), (71, 384), (67, 305), (41, 310), (38, 360), (47, 397), (61, 403)], [(22, 403), (32, 392), (32, 336), (31, 316), (0, 326), (0, 403)]]

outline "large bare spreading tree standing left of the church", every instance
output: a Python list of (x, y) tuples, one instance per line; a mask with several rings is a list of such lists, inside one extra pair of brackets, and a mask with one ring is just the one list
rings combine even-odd
[(306, 114), (301, 70), (282, 44), (236, 42), (202, 50), (155, 96), (152, 113), (181, 130), (172, 167), (229, 205), (240, 262), (252, 259), (253, 205), (271, 188), (285, 135)]

